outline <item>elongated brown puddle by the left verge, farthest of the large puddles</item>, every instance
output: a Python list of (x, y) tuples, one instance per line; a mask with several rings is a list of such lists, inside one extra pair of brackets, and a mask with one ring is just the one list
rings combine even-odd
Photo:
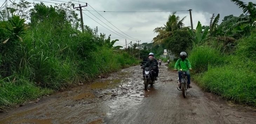
[(103, 82), (96, 82), (93, 84), (90, 84), (90, 89), (107, 89), (109, 87), (112, 87), (113, 84), (120, 83), (121, 80), (107, 80)]

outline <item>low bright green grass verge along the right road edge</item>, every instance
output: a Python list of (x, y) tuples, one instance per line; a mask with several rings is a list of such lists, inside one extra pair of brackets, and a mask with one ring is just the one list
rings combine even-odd
[(249, 63), (251, 62), (209, 68), (194, 79), (204, 90), (218, 94), (224, 99), (256, 106), (256, 76), (255, 71), (246, 68)]

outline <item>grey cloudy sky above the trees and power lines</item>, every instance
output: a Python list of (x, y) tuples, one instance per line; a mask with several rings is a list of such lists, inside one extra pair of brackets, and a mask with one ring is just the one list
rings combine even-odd
[[(27, 0), (29, 2), (39, 3), (39, 1)], [(65, 1), (68, 2), (70, 0), (41, 0), (48, 2), (56, 2)], [(78, 1), (78, 0), (75, 0)], [(73, 3), (78, 3), (72, 1)], [(80, 0), (81, 2), (87, 2), (90, 6), (92, 6), (95, 10), (99, 11), (176, 11), (176, 10), (189, 10), (192, 9), (192, 19), (194, 28), (197, 25), (197, 22), (200, 21), (202, 25), (209, 25), (210, 17), (213, 13), (217, 15), (220, 14), (220, 22), (224, 16), (233, 14), (234, 16), (239, 16), (242, 14), (242, 9), (238, 8), (233, 2), (230, 0)], [(249, 1), (254, 0), (242, 0), (248, 4)], [(4, 0), (1, 0), (3, 3)], [(50, 5), (53, 3), (47, 3), (46, 5)], [(83, 5), (85, 3), (81, 3)], [(86, 7), (88, 10), (93, 10), (90, 6)], [(157, 34), (154, 34), (153, 30), (156, 27), (163, 26), (166, 23), (168, 16), (172, 12), (150, 12), (150, 13), (114, 13), (114, 12), (99, 12), (103, 17), (105, 17), (109, 22), (111, 22), (115, 27), (119, 28), (121, 31), (113, 27), (110, 23), (108, 23), (105, 19), (103, 19), (98, 13), (91, 12), (95, 16), (97, 16), (100, 20), (105, 22), (108, 26), (103, 24), (101, 21), (96, 19), (92, 14), (88, 11), (83, 11), (88, 16), (92, 17), (95, 21), (104, 25), (106, 28), (110, 29), (112, 27), (117, 32), (121, 33), (123, 36), (126, 36), (121, 31), (126, 33), (127, 35), (140, 39), (142, 43), (152, 41), (152, 38)], [(187, 16), (184, 20), (186, 26), (190, 26), (190, 17), (189, 11), (181, 11), (177, 12), (178, 16), (183, 18)], [(91, 28), (95, 28), (96, 26), (99, 29), (99, 32), (104, 32), (106, 35), (111, 34), (113, 39), (119, 39), (115, 45), (125, 45), (125, 38), (122, 35), (118, 36), (108, 29), (102, 27), (100, 24), (96, 23), (88, 16), (83, 14), (83, 21), (85, 25), (90, 26)], [(110, 29), (112, 30), (112, 29)], [(126, 36), (128, 37), (128, 36)], [(130, 38), (130, 37), (129, 37)], [(127, 42), (131, 40), (127, 39)], [(135, 41), (132, 41), (135, 43)]]

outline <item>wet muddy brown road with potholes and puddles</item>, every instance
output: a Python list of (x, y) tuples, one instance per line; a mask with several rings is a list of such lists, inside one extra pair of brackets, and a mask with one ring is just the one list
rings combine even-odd
[(184, 99), (176, 89), (177, 73), (164, 64), (159, 68), (159, 80), (148, 91), (140, 66), (134, 66), (1, 113), (0, 124), (256, 124), (255, 108), (227, 104), (193, 82)]

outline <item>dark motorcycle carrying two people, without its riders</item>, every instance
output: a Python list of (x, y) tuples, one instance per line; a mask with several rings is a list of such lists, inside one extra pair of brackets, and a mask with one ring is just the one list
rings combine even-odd
[(143, 83), (144, 83), (145, 90), (148, 89), (149, 84), (153, 85), (155, 83), (155, 76), (153, 76), (153, 73), (155, 73), (153, 68), (149, 68), (149, 67), (145, 68), (144, 73), (143, 73), (143, 77), (144, 77)]

